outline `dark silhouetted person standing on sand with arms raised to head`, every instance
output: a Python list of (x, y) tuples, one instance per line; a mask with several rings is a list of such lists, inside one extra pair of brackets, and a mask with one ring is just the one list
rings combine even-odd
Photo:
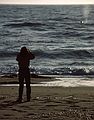
[(34, 54), (32, 54), (32, 52), (30, 52), (26, 47), (22, 47), (20, 53), (17, 55), (16, 60), (18, 61), (19, 65), (19, 97), (17, 99), (17, 102), (22, 102), (24, 80), (26, 82), (27, 101), (30, 101), (31, 87), (29, 64), (30, 60), (34, 58)]

